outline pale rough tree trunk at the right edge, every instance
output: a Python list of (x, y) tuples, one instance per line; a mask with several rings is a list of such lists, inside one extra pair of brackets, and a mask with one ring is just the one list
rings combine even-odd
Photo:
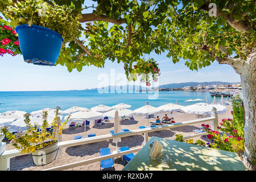
[[(255, 60), (255, 57), (253, 58)], [(248, 170), (256, 169), (256, 68), (246, 64), (241, 75), (242, 100), (245, 106), (245, 151), (243, 162)]]

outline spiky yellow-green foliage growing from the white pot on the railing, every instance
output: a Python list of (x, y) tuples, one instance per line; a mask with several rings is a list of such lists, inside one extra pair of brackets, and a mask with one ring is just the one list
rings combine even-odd
[[(11, 133), (7, 127), (1, 128), (1, 133), (3, 135), (6, 135), (6, 138), (8, 138), (10, 143), (22, 154), (30, 152), (35, 152), (35, 150), (39, 150), (41, 148), (51, 146), (52, 144), (55, 144), (57, 142), (57, 138), (59, 135), (61, 135), (62, 130), (64, 130), (65, 125), (67, 124), (67, 121), (70, 117), (70, 115), (67, 117), (67, 119), (59, 126), (59, 129), (56, 129), (57, 127), (57, 116), (59, 114), (60, 107), (56, 107), (55, 110), (55, 118), (51, 122), (51, 124), (47, 121), (48, 113), (47, 111), (43, 112), (42, 118), (43, 118), (43, 124), (39, 127), (38, 130), (38, 124), (31, 124), (30, 115), (31, 114), (24, 114), (24, 122), (26, 123), (27, 131), (24, 131), (22, 133), (13, 134)], [(49, 126), (52, 127), (52, 131), (47, 131), (47, 128)]]

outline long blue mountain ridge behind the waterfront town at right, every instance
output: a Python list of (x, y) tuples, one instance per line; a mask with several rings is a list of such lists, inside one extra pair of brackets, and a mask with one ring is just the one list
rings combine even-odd
[(166, 85), (160, 85), (159, 88), (162, 89), (174, 89), (174, 88), (183, 88), (184, 86), (197, 86), (197, 85), (232, 85), (232, 84), (238, 84), (240, 82), (222, 82), (222, 81), (210, 81), (210, 82), (183, 82), (183, 83), (177, 83), (177, 84), (166, 84)]

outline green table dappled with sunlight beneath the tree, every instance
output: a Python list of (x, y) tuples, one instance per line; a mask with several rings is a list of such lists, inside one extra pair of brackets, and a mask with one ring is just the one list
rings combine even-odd
[[(161, 164), (148, 156), (149, 143), (157, 139), (171, 156), (168, 164)], [(245, 171), (240, 157), (233, 152), (216, 150), (195, 144), (152, 137), (122, 169), (123, 171)]]

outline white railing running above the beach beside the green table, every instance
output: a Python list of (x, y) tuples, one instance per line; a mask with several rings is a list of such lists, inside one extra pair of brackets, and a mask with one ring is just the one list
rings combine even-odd
[[(68, 140), (68, 141), (64, 141), (64, 142), (59, 142), (58, 147), (61, 150), (61, 148), (65, 148), (65, 147), (79, 146), (81, 144), (101, 142), (101, 141), (104, 141), (104, 140), (109, 140), (109, 139), (114, 139), (114, 138), (122, 138), (122, 137), (129, 137), (129, 136), (138, 135), (138, 134), (143, 134), (144, 144), (145, 144), (148, 141), (148, 133), (150, 133), (150, 132), (172, 129), (172, 128), (175, 128), (175, 127), (186, 126), (186, 125), (208, 122), (208, 121), (212, 121), (212, 128), (214, 130), (218, 131), (218, 129), (217, 129), (218, 115), (216, 113), (212, 113), (210, 115), (210, 117), (208, 117), (208, 118), (195, 119), (195, 120), (192, 120), (192, 121), (185, 121), (185, 122), (179, 122), (179, 123), (172, 123), (172, 124), (168, 124), (168, 125), (160, 125), (160, 126), (156, 126), (156, 127), (146, 127), (144, 129), (123, 131), (123, 132), (119, 132), (119, 133), (100, 135), (100, 136), (96, 136), (96, 137), (81, 138), (81, 139), (76, 139), (76, 140)], [(205, 134), (206, 133), (203, 132), (203, 133), (198, 133), (198, 134), (194, 134), (194, 135), (183, 137), (183, 138), (184, 139), (191, 139), (191, 138), (195, 138), (195, 137), (200, 137), (200, 136), (205, 135)], [(65, 164), (63, 166), (53, 167), (53, 168), (49, 168), (49, 169), (46, 169), (46, 170), (64, 170), (64, 169), (68, 169), (68, 168), (81, 166), (81, 165), (84, 165), (84, 164), (99, 162), (101, 160), (110, 159), (110, 158), (113, 158), (113, 157), (130, 154), (132, 152), (138, 152), (139, 150), (141, 150), (141, 148), (142, 147), (134, 148), (134, 149), (131, 149), (131, 150), (119, 152), (117, 154), (110, 154), (110, 155), (101, 156), (101, 157), (98, 157), (98, 158), (83, 160), (81, 162), (76, 162), (76, 163), (72, 163), (72, 164)], [(19, 150), (7, 150), (6, 151), (6, 143), (1, 142), (0, 143), (0, 169), (1, 169), (1, 171), (10, 170), (10, 158), (13, 158), (15, 156), (20, 156), (20, 155), (22, 155), (22, 154), (20, 154)], [(27, 154), (24, 154), (24, 155), (27, 155)]]

